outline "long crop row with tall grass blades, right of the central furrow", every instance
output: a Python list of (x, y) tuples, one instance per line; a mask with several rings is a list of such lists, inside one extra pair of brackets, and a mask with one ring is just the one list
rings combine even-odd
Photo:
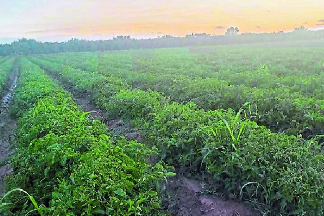
[[(179, 173), (204, 176), (228, 196), (249, 200), (268, 215), (322, 215), (324, 156), (317, 140), (272, 133), (252, 121), (247, 103), (204, 111), (190, 102), (171, 102), (158, 92), (131, 89), (115, 77), (33, 59), (74, 85), (112, 119), (128, 119), (142, 131), (143, 142)], [(82, 75), (80, 75), (82, 73)], [(77, 77), (77, 79), (75, 79)], [(98, 83), (101, 79), (101, 83)]]

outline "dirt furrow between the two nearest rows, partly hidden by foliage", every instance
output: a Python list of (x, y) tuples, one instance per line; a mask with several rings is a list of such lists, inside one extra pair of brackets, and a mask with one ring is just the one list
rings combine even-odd
[[(91, 95), (86, 93), (80, 95), (72, 85), (66, 85), (66, 80), (62, 77), (51, 73), (42, 68), (47, 75), (57, 80), (58, 84), (63, 86), (66, 91), (70, 92), (77, 105), (85, 112), (95, 111), (91, 113), (92, 117), (97, 120), (102, 120), (108, 130), (116, 136), (124, 136), (127, 140), (141, 141), (141, 134), (136, 129), (132, 128), (131, 122), (114, 119), (108, 121), (105, 117), (108, 116), (104, 111), (99, 109), (92, 102)], [(164, 199), (163, 205), (166, 210), (172, 215), (179, 216), (259, 216), (260, 214), (252, 210), (243, 202), (235, 202), (234, 200), (226, 200), (220, 196), (202, 195), (204, 192), (203, 184), (200, 181), (187, 178), (183, 175), (177, 175), (170, 178), (166, 186), (166, 196), (169, 199)]]

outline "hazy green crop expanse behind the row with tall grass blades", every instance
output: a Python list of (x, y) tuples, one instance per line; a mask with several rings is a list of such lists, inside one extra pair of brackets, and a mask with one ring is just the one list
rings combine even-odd
[[(269, 46), (265, 43), (39, 57), (51, 61), (47, 64), (52, 68), (68, 64), (87, 70), (89, 80), (103, 75), (125, 88), (130, 85), (145, 91), (151, 89), (167, 95), (171, 101), (194, 102), (205, 110), (232, 108), (237, 112), (242, 104), (251, 102), (253, 111), (259, 109), (254, 120), (273, 132), (301, 134), (306, 139), (323, 133), (323, 122), (305, 117), (305, 113), (318, 113), (318, 109), (303, 109), (295, 103), (298, 98), (315, 98), (316, 104), (324, 99), (324, 64), (320, 54), (323, 49), (309, 43), (305, 47), (287, 43)], [(33, 61), (46, 62), (36, 58)], [(90, 72), (94, 73), (90, 76)], [(108, 103), (106, 93), (99, 100), (104, 98)]]

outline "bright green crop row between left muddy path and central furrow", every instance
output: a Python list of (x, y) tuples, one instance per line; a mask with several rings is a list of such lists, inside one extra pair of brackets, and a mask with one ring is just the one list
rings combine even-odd
[(175, 174), (149, 162), (155, 150), (112, 141), (39, 66), (19, 63), (15, 174), (7, 177), (0, 214), (163, 215), (161, 188)]

